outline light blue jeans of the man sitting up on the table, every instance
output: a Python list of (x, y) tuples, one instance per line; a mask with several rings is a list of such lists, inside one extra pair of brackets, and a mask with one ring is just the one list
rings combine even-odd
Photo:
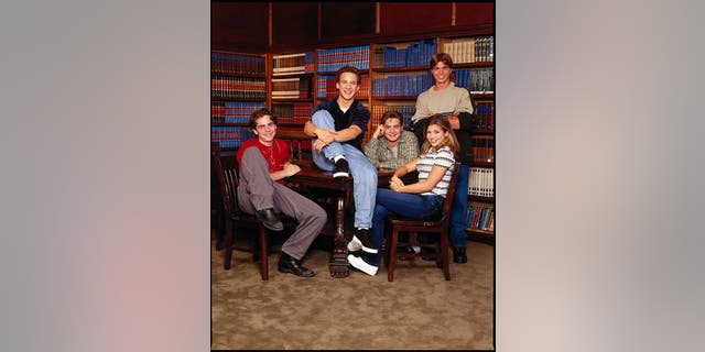
[[(311, 117), (313, 124), (327, 130), (335, 130), (333, 116), (326, 110), (318, 110)], [(316, 139), (313, 140), (313, 143)], [(369, 228), (372, 226), (372, 209), (377, 194), (377, 168), (370, 160), (357, 147), (340, 142), (333, 142), (323, 148), (323, 153), (313, 151), (313, 162), (321, 169), (332, 172), (333, 158), (343, 155), (350, 165), (352, 176), (352, 197), (355, 198), (356, 228)]]

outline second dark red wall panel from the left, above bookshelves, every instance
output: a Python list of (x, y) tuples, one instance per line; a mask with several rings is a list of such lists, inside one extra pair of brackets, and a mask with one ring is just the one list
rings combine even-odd
[(272, 2), (272, 52), (300, 51), (318, 42), (318, 2)]

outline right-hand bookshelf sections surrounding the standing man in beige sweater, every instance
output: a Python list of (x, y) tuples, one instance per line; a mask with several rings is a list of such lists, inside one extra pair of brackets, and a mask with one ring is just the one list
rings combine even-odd
[[(453, 57), (452, 80), (469, 90), (475, 107), (477, 129), (473, 133), (474, 161), (468, 187), (468, 238), (494, 243), (495, 212), (495, 41), (494, 35), (434, 36), (371, 45), (372, 87), (371, 136), (381, 116), (397, 110), (408, 128), (415, 112), (416, 97), (433, 85), (429, 59), (438, 52)], [(470, 210), (473, 215), (470, 215)], [(482, 222), (473, 216), (484, 213)], [(491, 227), (489, 226), (491, 219)], [(476, 220), (476, 223), (471, 221)]]

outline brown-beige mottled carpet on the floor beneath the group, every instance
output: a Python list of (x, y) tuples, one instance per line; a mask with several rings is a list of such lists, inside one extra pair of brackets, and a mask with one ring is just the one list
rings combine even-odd
[[(243, 244), (247, 246), (247, 244)], [(300, 278), (276, 271), (260, 278), (251, 254), (212, 250), (212, 348), (214, 350), (492, 350), (494, 248), (468, 242), (468, 263), (451, 264), (451, 280), (434, 262), (397, 262), (377, 276), (328, 274), (329, 252), (312, 248)]]

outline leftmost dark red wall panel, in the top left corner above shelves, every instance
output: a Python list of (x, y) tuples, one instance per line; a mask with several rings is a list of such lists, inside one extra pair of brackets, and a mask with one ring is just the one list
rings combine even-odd
[(243, 53), (269, 52), (267, 2), (210, 2), (210, 47)]

